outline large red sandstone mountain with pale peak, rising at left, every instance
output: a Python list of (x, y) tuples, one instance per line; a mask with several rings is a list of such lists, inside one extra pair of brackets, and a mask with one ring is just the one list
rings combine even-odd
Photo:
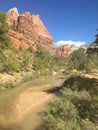
[(31, 15), (29, 12), (19, 15), (17, 8), (13, 8), (7, 12), (7, 23), (14, 28), (8, 32), (14, 47), (31, 47), (36, 50), (37, 45), (41, 45), (52, 54), (56, 54), (53, 38), (39, 15)]

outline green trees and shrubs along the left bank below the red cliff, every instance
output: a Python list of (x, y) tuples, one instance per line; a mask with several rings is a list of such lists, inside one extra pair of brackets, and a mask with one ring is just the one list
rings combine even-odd
[[(37, 51), (29, 49), (16, 49), (7, 32), (10, 29), (6, 23), (6, 14), (0, 12), (0, 73), (13, 75), (14, 73), (31, 72), (24, 75), (22, 81), (26, 82), (41, 75), (51, 75), (58, 71), (65, 63), (61, 57), (51, 55), (43, 47), (38, 46)], [(1, 84), (2, 86), (2, 84)], [(13, 81), (3, 84), (5, 89), (16, 87)]]

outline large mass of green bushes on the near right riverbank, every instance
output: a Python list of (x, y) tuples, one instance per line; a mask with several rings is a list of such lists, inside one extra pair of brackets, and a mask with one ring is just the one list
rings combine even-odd
[(48, 105), (43, 116), (44, 130), (97, 130), (98, 82), (71, 76), (64, 82), (60, 96)]

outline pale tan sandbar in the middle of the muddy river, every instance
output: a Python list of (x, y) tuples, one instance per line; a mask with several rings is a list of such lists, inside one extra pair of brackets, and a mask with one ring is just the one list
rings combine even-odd
[[(49, 85), (45, 85), (44, 88)], [(43, 87), (32, 87), (22, 92), (15, 102), (15, 113), (17, 113), (17, 119), (19, 120), (24, 114), (31, 109), (39, 107), (41, 104), (52, 98), (52, 93), (43, 91)]]

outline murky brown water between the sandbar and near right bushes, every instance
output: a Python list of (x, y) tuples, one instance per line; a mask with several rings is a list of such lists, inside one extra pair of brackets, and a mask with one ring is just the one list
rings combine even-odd
[(41, 114), (46, 110), (46, 106), (41, 104), (19, 120), (12, 128), (14, 130), (36, 130), (41, 125)]

